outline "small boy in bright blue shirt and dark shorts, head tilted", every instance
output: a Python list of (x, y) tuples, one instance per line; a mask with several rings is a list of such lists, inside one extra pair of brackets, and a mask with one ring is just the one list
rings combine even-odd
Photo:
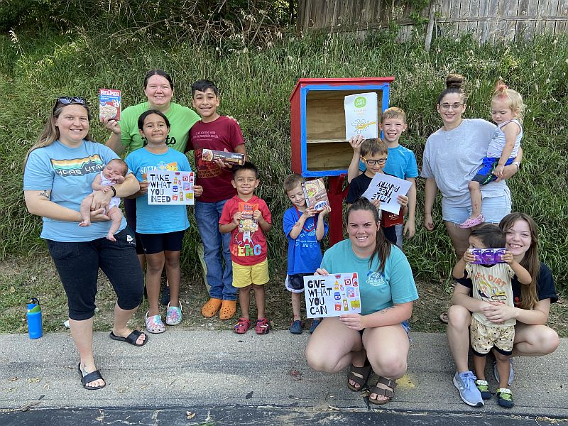
[[(288, 175), (284, 180), (284, 190), (293, 207), (284, 212), (284, 234), (288, 239), (288, 275), (286, 276), (286, 289), (292, 296), (292, 312), (294, 319), (290, 324), (290, 333), (302, 333), (302, 293), (304, 292), (305, 275), (313, 275), (322, 263), (322, 249), (320, 241), (327, 234), (327, 224), (324, 222), (326, 214), (331, 207), (326, 205), (321, 212), (313, 207), (307, 207), (302, 190), (304, 178), (300, 175)], [(310, 327), (313, 333), (320, 324), (321, 318), (314, 318)]]

